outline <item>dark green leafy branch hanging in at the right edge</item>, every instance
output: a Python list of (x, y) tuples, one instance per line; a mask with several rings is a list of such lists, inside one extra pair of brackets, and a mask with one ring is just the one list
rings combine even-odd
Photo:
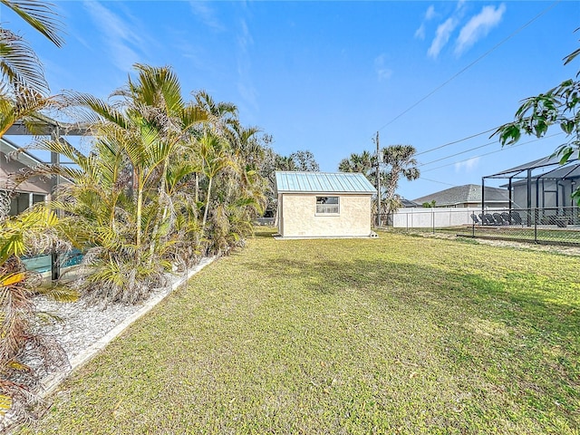
[[(577, 31), (578, 29), (576, 29)], [(580, 55), (580, 48), (564, 58), (567, 65)], [(523, 134), (542, 138), (553, 125), (559, 125), (565, 132), (566, 140), (560, 145), (555, 155), (560, 157), (560, 164), (565, 164), (574, 157), (580, 158), (580, 81), (578, 77), (561, 82), (555, 88), (524, 100), (517, 109), (515, 121), (502, 125), (494, 132), (502, 146), (515, 144)], [(572, 194), (580, 204), (580, 187)]]

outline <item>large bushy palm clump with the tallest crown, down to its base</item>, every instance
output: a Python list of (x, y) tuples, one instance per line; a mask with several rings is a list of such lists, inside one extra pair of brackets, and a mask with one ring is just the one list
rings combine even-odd
[(137, 77), (113, 94), (120, 102), (69, 95), (71, 104), (84, 109), (82, 120), (96, 138), (92, 153), (84, 157), (65, 143), (43, 140), (41, 148), (63, 154), (78, 168), (36, 171), (73, 181), (53, 205), (67, 212), (71, 218), (65, 222), (90, 247), (79, 288), (125, 303), (146, 297), (170, 267), (167, 253), (176, 237), (176, 213), (183, 209), (173, 203), (176, 183), (188, 175), (184, 170), (189, 175), (200, 170), (193, 164), (178, 167), (193, 133), (207, 120), (195, 103), (183, 101), (169, 68), (136, 69)]

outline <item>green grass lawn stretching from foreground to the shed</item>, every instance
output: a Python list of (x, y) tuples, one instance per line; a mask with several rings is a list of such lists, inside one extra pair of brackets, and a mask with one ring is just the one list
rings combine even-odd
[(18, 433), (580, 430), (580, 257), (258, 231)]

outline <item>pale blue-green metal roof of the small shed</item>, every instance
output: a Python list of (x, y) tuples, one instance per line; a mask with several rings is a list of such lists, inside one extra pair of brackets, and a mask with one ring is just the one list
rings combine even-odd
[(278, 193), (376, 193), (369, 180), (356, 172), (276, 171), (275, 189)]

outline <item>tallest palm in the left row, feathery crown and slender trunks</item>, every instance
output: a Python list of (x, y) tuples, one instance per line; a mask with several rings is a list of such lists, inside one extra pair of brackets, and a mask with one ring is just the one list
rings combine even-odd
[[(166, 179), (170, 161), (177, 158), (183, 142), (189, 140), (192, 130), (207, 121), (208, 115), (197, 105), (184, 102), (179, 78), (168, 67), (136, 64), (135, 69), (137, 79), (130, 78), (126, 88), (113, 93), (124, 99), (124, 111), (90, 95), (73, 95), (73, 102), (97, 115), (93, 121), (104, 129), (101, 131), (104, 136), (127, 136), (123, 152), (133, 171), (132, 189), (137, 201), (135, 243), (140, 247), (145, 191), (151, 187), (158, 190), (159, 224), (160, 219), (167, 217), (169, 208)], [(154, 227), (159, 229), (159, 225)]]

